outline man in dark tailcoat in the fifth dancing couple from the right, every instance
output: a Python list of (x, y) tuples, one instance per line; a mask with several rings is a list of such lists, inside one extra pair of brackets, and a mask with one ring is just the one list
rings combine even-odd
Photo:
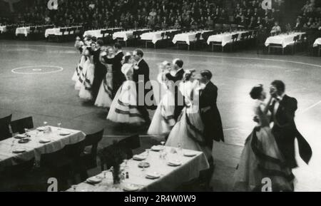
[(104, 63), (113, 65), (113, 97), (115, 97), (118, 89), (121, 87), (124, 81), (126, 81), (126, 77), (121, 72), (121, 67), (123, 61), (123, 51), (121, 50), (121, 44), (115, 43), (113, 46), (113, 52), (115, 53), (114, 58), (106, 58), (103, 57)]

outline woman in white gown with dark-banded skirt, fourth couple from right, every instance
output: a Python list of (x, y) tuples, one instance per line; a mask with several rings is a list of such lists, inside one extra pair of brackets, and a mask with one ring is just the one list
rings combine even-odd
[(126, 125), (143, 125), (144, 120), (137, 109), (136, 83), (133, 81), (133, 58), (131, 53), (123, 57), (121, 72), (126, 76), (126, 81), (118, 89), (107, 119), (114, 123)]

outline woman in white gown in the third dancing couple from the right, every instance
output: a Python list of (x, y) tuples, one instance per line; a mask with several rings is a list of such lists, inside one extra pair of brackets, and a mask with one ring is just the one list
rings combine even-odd
[(158, 74), (158, 82), (161, 83), (161, 101), (151, 121), (148, 129), (148, 135), (153, 135), (155, 138), (163, 139), (172, 130), (175, 125), (174, 110), (175, 110), (175, 95), (173, 82), (168, 81), (165, 73), (170, 71), (171, 64), (164, 61), (159, 65), (160, 73)]

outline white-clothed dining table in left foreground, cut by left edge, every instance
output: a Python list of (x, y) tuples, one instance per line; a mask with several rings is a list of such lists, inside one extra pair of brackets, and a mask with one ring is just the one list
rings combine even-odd
[(66, 145), (81, 142), (86, 134), (80, 130), (54, 126), (39, 127), (0, 141), (0, 171), (34, 159), (40, 163), (41, 155), (54, 153)]

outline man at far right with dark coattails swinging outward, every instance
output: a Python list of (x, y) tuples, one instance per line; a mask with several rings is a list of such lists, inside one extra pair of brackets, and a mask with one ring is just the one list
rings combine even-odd
[(282, 81), (273, 81), (270, 87), (273, 97), (270, 105), (271, 121), (274, 123), (272, 134), (275, 136), (280, 152), (285, 158), (285, 163), (290, 168), (297, 168), (295, 160), (295, 138), (299, 145), (299, 153), (305, 163), (309, 163), (312, 150), (309, 143), (302, 137), (295, 125), (295, 111), (297, 100), (285, 94), (285, 84)]

